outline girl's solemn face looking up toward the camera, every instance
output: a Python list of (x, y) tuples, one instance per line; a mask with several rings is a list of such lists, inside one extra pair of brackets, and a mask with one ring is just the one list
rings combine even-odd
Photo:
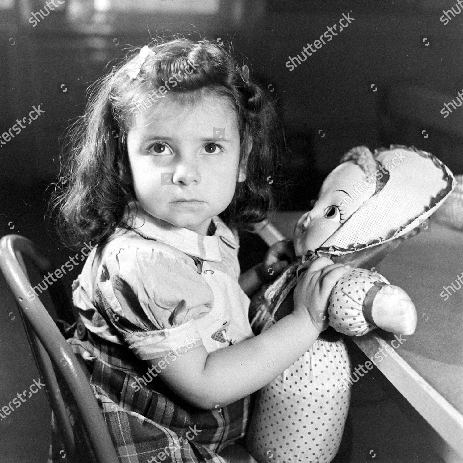
[(140, 205), (163, 226), (206, 235), (246, 178), (238, 172), (238, 119), (229, 100), (205, 93), (181, 104), (168, 94), (134, 119), (127, 150)]

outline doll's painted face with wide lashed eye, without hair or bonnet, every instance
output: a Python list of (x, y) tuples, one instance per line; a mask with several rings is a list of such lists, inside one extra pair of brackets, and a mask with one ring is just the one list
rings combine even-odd
[[(376, 184), (367, 180), (353, 161), (342, 163), (323, 182), (313, 208), (294, 227), (296, 256), (316, 250), (375, 193)], [(365, 181), (367, 180), (367, 181)]]

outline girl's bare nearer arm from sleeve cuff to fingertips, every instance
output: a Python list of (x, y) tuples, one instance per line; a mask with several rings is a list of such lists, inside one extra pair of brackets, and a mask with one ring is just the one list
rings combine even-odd
[(147, 362), (179, 396), (196, 407), (228, 405), (262, 388), (306, 352), (327, 323), (331, 290), (348, 271), (320, 257), (300, 275), (294, 290), (294, 311), (265, 332), (238, 344), (207, 354), (204, 346), (175, 361)]

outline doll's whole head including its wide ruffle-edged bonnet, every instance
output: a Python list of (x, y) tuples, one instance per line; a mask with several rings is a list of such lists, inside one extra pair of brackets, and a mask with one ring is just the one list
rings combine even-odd
[(411, 236), (456, 184), (444, 163), (413, 146), (391, 145), (374, 154), (365, 146), (353, 148), (325, 179), (313, 208), (298, 220), (296, 256), (309, 250), (318, 256), (360, 255)]

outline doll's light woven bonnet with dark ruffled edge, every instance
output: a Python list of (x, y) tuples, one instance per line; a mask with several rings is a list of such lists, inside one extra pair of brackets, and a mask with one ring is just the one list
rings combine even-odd
[(386, 183), (316, 254), (350, 254), (405, 235), (436, 211), (457, 185), (444, 163), (414, 146), (391, 145), (375, 150), (373, 157), (381, 163)]

